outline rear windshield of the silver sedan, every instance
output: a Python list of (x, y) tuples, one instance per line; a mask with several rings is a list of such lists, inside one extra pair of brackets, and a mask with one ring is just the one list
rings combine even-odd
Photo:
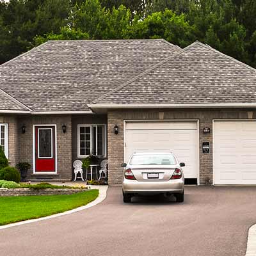
[(132, 156), (131, 165), (176, 164), (172, 155), (138, 155)]

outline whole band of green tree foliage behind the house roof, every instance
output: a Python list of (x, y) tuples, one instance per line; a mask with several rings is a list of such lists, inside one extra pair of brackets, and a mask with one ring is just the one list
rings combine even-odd
[(195, 40), (256, 67), (255, 0), (0, 0), (0, 63), (47, 40)]

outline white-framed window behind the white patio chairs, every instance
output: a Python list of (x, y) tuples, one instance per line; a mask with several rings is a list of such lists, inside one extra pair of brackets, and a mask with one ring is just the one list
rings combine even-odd
[(106, 156), (106, 125), (77, 125), (78, 157)]

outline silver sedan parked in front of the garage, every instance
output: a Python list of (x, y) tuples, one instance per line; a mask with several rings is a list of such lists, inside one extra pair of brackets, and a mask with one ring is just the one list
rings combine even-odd
[(177, 157), (172, 152), (134, 153), (124, 170), (124, 202), (131, 202), (134, 195), (175, 195), (177, 202), (184, 201), (184, 175)]

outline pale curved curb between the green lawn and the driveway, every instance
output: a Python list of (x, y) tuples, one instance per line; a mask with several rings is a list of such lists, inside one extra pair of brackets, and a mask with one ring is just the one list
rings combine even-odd
[(24, 220), (24, 221), (19, 221), (19, 222), (16, 222), (16, 223), (11, 223), (11, 224), (8, 224), (8, 225), (3, 225), (3, 226), (0, 226), (0, 230), (5, 229), (5, 228), (11, 228), (11, 227), (19, 226), (19, 225), (29, 224), (29, 223), (33, 223), (33, 222), (37, 222), (37, 221), (49, 220), (49, 219), (60, 217), (60, 216), (63, 216), (63, 215), (72, 214), (74, 212), (83, 211), (85, 209), (88, 209), (90, 207), (93, 207), (93, 206), (99, 204), (107, 196), (108, 186), (90, 186), (90, 189), (99, 189), (99, 196), (93, 202), (90, 202), (89, 204), (86, 204), (86, 205), (81, 206), (81, 207), (77, 207), (77, 208), (69, 210), (69, 211), (53, 214), (53, 215), (38, 218), (38, 219)]

